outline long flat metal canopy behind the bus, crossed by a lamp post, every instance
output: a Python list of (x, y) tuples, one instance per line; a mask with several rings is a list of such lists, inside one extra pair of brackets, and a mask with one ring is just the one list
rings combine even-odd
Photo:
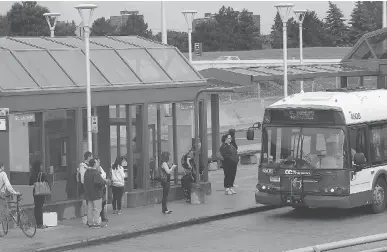
[[(237, 85), (252, 85), (259, 81), (282, 81), (283, 66), (260, 66), (246, 68), (210, 68), (200, 71), (205, 78), (218, 79)], [(345, 64), (314, 64), (288, 66), (288, 80), (314, 79), (320, 77), (375, 76), (378, 70), (348, 66)]]

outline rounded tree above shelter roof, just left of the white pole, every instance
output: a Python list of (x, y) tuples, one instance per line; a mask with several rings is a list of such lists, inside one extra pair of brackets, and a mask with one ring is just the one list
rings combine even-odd
[(152, 38), (152, 30), (148, 30), (148, 23), (145, 23), (142, 15), (129, 15), (126, 23), (120, 28), (120, 35)]

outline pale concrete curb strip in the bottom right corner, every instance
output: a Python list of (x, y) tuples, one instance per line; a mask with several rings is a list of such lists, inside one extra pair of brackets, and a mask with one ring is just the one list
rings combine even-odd
[[(299, 248), (294, 250), (287, 250), (285, 252), (323, 252), (323, 251), (332, 251), (336, 249), (342, 249), (342, 248), (348, 248), (348, 247), (354, 247), (369, 243), (375, 243), (375, 242), (381, 242), (381, 241), (387, 241), (387, 233), (383, 234), (376, 234), (376, 235), (370, 235), (370, 236), (363, 236), (355, 239), (349, 239), (349, 240), (342, 240), (337, 242), (331, 242), (331, 243), (324, 243), (320, 245), (305, 247), (305, 248)], [(385, 252), (387, 251), (387, 247), (381, 247), (376, 249), (369, 249), (369, 250), (363, 250), (361, 252)]]

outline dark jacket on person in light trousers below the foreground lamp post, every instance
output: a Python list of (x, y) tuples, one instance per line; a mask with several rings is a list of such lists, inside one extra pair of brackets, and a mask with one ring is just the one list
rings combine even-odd
[(94, 201), (102, 199), (105, 182), (99, 174), (98, 169), (89, 168), (85, 172), (83, 188), (85, 200)]

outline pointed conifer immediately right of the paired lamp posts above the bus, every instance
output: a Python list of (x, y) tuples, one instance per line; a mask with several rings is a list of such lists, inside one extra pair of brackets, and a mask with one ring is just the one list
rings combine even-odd
[(348, 41), (347, 27), (344, 24), (343, 13), (336, 4), (328, 2), (329, 9), (325, 18), (325, 31), (329, 37), (329, 44), (326, 46), (344, 46)]

